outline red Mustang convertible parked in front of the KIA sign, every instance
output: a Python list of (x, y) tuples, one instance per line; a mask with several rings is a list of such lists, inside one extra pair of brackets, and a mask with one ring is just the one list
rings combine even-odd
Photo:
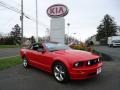
[(58, 82), (86, 79), (101, 72), (100, 57), (90, 52), (73, 50), (57, 42), (35, 43), (20, 50), (25, 68), (34, 66), (47, 71)]

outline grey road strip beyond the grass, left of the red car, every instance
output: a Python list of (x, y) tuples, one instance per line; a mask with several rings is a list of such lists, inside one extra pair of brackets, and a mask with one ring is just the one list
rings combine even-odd
[(18, 55), (19, 50), (19, 48), (0, 49), (0, 58)]

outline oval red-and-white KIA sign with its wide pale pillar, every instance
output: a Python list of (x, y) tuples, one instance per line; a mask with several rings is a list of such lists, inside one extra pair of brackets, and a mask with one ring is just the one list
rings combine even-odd
[(50, 21), (50, 41), (64, 43), (65, 40), (65, 19), (68, 14), (67, 6), (63, 4), (54, 4), (47, 9), (47, 15), (51, 17)]

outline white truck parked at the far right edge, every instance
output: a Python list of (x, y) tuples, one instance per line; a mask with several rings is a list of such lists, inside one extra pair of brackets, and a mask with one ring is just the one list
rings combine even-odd
[(114, 47), (114, 46), (120, 46), (120, 36), (111, 36), (108, 37), (108, 46)]

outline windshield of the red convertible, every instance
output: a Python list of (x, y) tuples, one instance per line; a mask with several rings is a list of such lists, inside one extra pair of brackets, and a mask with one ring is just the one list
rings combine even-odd
[(47, 49), (49, 51), (57, 51), (57, 50), (67, 50), (67, 49), (70, 49), (70, 47), (68, 47), (65, 44), (61, 44), (61, 43), (45, 43), (45, 46), (47, 47)]

